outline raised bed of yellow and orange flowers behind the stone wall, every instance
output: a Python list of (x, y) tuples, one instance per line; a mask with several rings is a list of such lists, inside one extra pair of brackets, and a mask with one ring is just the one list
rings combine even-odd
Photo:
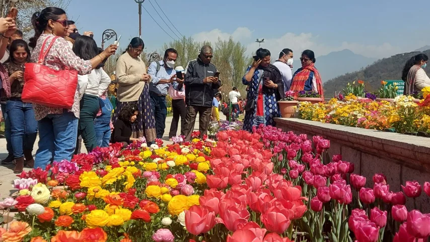
[(360, 100), (353, 95), (342, 101), (331, 99), (328, 103), (300, 103), (298, 112), (302, 119), (322, 123), (388, 130), (397, 133), (430, 134), (430, 95), (417, 104), (413, 97), (398, 96), (393, 102)]

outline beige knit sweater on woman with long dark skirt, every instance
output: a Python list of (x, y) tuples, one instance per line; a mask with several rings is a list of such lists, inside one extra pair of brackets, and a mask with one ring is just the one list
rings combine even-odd
[(141, 81), (142, 74), (147, 74), (147, 68), (140, 57), (133, 58), (125, 52), (116, 62), (118, 82), (117, 98), (120, 102), (139, 100), (145, 82)]

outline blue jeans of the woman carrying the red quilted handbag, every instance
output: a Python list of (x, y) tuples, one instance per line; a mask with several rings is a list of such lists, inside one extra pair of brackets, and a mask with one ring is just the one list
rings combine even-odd
[(45, 169), (52, 161), (70, 160), (78, 138), (78, 118), (73, 112), (48, 114), (38, 121), (39, 149), (34, 168)]

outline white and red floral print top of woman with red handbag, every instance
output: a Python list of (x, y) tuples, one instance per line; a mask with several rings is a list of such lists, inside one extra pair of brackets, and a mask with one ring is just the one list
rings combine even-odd
[[(37, 40), (36, 47), (31, 51), (31, 62), (37, 63), (40, 55), (40, 51), (43, 45), (43, 42), (46, 38), (49, 38), (46, 42), (46, 46), (44, 51), (48, 48), (52, 39), (54, 38), (51, 34), (42, 34)], [(54, 70), (64, 70), (66, 67), (70, 70), (78, 71), (79, 75), (87, 75), (91, 73), (92, 66), (91, 61), (85, 61), (78, 57), (70, 48), (70, 45), (67, 40), (64, 38), (57, 38), (55, 43), (52, 45), (48, 54), (45, 57), (45, 61), (43, 63), (44, 66), (52, 68)], [(79, 118), (79, 85), (76, 87), (75, 92), (75, 100), (73, 102), (73, 106), (71, 109), (67, 110), (69, 112), (73, 112), (73, 114)], [(48, 107), (40, 104), (33, 104), (34, 115), (36, 120), (41, 120), (46, 117), (48, 114), (62, 114), (64, 109)]]

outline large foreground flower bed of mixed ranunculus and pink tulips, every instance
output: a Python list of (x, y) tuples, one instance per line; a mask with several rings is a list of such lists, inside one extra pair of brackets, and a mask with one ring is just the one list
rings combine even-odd
[[(339, 155), (322, 160), (328, 140), (263, 126), (217, 136), (216, 144), (194, 139), (153, 149), (115, 144), (23, 172), (14, 181), (19, 196), (0, 202), (19, 211), (2, 238), (362, 242), (430, 235), (430, 217), (403, 206), (406, 196), (421, 195), (418, 183), (393, 193), (376, 174), (365, 188), (352, 163)], [(430, 194), (430, 185), (423, 190)]]

